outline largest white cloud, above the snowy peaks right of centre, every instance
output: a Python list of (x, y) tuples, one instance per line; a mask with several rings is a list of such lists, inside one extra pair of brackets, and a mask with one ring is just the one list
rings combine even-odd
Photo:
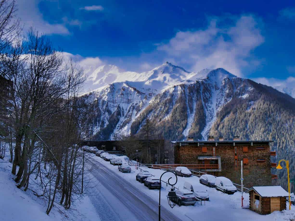
[(158, 50), (167, 54), (165, 60), (188, 64), (194, 71), (222, 67), (242, 76), (241, 69), (259, 65), (251, 58), (251, 51), (264, 42), (258, 22), (253, 16), (241, 16), (232, 27), (222, 27), (219, 20), (212, 20), (204, 30), (177, 32)]

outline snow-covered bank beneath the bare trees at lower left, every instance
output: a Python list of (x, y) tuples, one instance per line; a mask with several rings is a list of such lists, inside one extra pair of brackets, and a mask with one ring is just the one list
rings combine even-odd
[(5, 157), (4, 160), (0, 159), (0, 220), (100, 220), (87, 196), (81, 201), (76, 200), (68, 210), (55, 203), (50, 214), (47, 215), (46, 199), (34, 195), (34, 193), (40, 194), (38, 188), (30, 182), (29, 189), (26, 192), (18, 189), (13, 181), (15, 176), (11, 174), (12, 164), (7, 161), (8, 157)]

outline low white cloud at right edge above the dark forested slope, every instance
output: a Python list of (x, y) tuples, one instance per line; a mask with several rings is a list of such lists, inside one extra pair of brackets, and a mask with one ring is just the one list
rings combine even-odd
[(253, 78), (257, 83), (261, 83), (264, 85), (271, 86), (278, 91), (281, 91), (283, 93), (286, 93), (290, 95), (291, 97), (295, 98), (295, 77), (288, 77), (285, 80), (282, 79), (277, 79), (277, 78), (266, 78), (266, 77), (258, 77), (258, 78)]

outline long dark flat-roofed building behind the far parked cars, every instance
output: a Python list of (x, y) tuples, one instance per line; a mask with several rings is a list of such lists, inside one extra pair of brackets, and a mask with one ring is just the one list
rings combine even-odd
[[(165, 140), (82, 141), (81, 146), (95, 146), (104, 151), (120, 151), (141, 163), (165, 164), (168, 160)], [(137, 150), (137, 152), (136, 152)], [(137, 154), (138, 154), (138, 157)], [(133, 157), (134, 156), (134, 157)]]

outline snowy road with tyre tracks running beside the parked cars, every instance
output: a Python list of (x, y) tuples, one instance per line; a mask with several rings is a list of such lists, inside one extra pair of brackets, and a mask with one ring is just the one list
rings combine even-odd
[[(95, 191), (91, 189), (93, 195), (90, 198), (101, 220), (158, 220), (158, 202), (102, 163), (91, 160), (90, 165), (93, 166), (91, 174), (99, 182)], [(161, 220), (180, 219), (161, 207)]]

